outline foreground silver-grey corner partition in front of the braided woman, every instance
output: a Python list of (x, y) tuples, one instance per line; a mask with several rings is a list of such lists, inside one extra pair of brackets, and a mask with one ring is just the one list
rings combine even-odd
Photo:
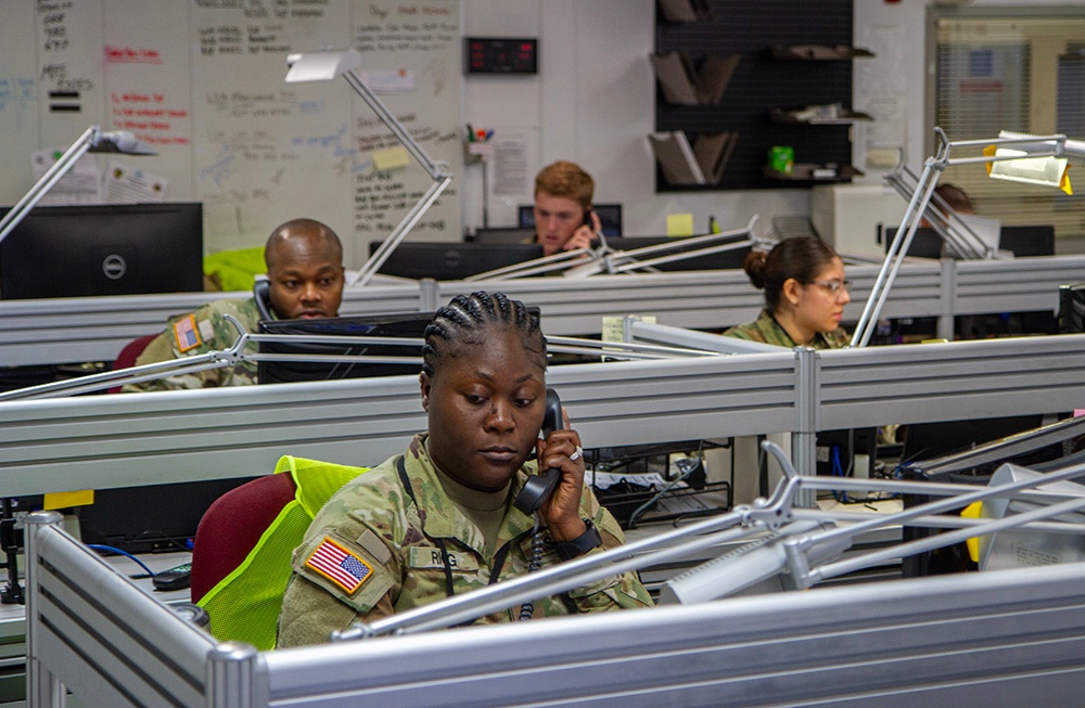
[(56, 519), (30, 524), (31, 706), (68, 690), (86, 705), (231, 708), (1069, 706), (1085, 692), (1085, 564), (257, 653), (216, 645)]

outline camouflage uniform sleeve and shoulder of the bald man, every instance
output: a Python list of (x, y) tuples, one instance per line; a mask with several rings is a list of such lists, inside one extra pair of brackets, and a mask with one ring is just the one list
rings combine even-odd
[[(169, 321), (166, 331), (151, 340), (136, 365), (159, 361), (195, 357), (212, 350), (228, 349), (238, 338), (238, 330), (224, 314), (232, 314), (246, 332), (256, 332), (260, 321), (256, 300), (215, 300)], [(127, 384), (122, 388), (126, 394), (153, 390), (177, 390), (181, 388), (210, 388), (214, 386), (241, 386), (256, 383), (256, 363), (239, 362), (233, 366), (219, 366), (190, 374), (180, 374)]]

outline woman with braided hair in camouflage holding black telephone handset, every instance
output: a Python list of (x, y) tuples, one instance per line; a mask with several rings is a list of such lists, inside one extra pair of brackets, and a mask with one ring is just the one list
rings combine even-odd
[[(294, 552), (277, 646), (327, 642), (372, 621), (613, 548), (623, 535), (584, 485), (575, 430), (538, 438), (546, 340), (538, 317), (501, 294), (457, 295), (425, 330), (421, 384), (429, 429), (406, 453), (348, 482)], [(538, 463), (528, 461), (537, 452)], [(513, 502), (537, 467), (560, 481), (535, 518)], [(477, 623), (647, 607), (626, 572), (490, 614)]]

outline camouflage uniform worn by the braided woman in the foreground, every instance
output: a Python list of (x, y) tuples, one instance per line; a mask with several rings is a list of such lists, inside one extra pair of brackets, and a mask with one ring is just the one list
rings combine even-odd
[[(426, 453), (426, 435), (418, 435), (403, 456), (413, 491), (406, 492), (397, 469), (399, 455), (347, 482), (321, 509), (294, 551), (294, 574), (279, 616), (277, 646), (327, 642), (333, 630), (355, 620), (372, 621), (426, 605), (448, 595), (448, 574), (455, 594), (484, 588), (527, 572), (533, 519), (511, 503), (495, 545), (486, 548), (482, 531), (444, 493)], [(513, 477), (510, 500), (523, 487), (535, 463)], [(610, 512), (585, 487), (580, 513), (591, 518), (603, 548), (624, 541)], [(548, 533), (541, 567), (560, 563)], [(443, 546), (443, 548), (442, 548)], [(322, 572), (314, 566), (324, 550), (355, 568), (354, 576)], [(443, 559), (447, 552), (448, 563)], [(596, 549), (590, 553), (599, 553)], [(332, 569), (335, 570), (334, 568)], [(496, 577), (493, 577), (494, 574)], [(352, 579), (353, 578), (353, 579)], [(359, 580), (360, 578), (360, 580)], [(623, 607), (649, 607), (652, 601), (636, 574), (626, 572), (535, 602), (534, 617), (597, 613)], [(516, 619), (520, 606), (493, 613), (476, 623)]]

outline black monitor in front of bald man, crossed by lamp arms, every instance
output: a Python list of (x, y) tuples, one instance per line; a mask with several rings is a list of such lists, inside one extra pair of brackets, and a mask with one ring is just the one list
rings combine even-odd
[[(352, 355), (383, 357), (416, 357), (417, 363), (360, 363), (335, 361), (259, 361), (256, 382), (284, 384), (304, 381), (335, 378), (365, 378), (369, 376), (418, 375), (422, 371), (422, 335), (433, 319), (432, 312), (405, 312), (373, 316), (318, 318), (311, 320), (269, 320), (260, 322), (261, 334), (302, 335), (312, 342), (261, 342), (260, 353), (276, 355)], [(324, 344), (322, 336), (405, 337), (418, 339), (417, 347), (386, 344), (357, 345)]]

